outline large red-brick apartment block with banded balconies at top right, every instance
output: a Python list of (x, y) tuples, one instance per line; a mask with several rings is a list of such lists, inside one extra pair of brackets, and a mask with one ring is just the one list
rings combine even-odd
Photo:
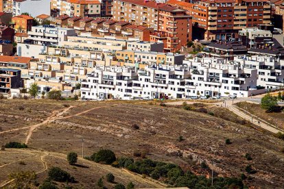
[(264, 0), (206, 0), (196, 3), (170, 0), (167, 3), (187, 10), (187, 14), (193, 17), (193, 26), (198, 31), (194, 38), (228, 40), (235, 38), (235, 34), (244, 27), (271, 23), (271, 5)]

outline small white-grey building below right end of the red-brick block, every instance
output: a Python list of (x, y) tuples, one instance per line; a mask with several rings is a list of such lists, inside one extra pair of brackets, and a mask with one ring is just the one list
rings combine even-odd
[(274, 44), (272, 32), (257, 28), (243, 28), (239, 31), (239, 41), (246, 47), (270, 47)]

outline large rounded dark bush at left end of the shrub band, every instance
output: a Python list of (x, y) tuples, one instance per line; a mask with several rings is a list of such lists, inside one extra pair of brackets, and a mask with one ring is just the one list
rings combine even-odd
[(91, 155), (91, 160), (97, 163), (103, 162), (105, 164), (112, 164), (116, 159), (115, 153), (109, 149), (100, 149), (97, 153)]

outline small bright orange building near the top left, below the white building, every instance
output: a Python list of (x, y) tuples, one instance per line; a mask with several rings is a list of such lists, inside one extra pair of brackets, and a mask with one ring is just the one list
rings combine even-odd
[(27, 33), (27, 31), (30, 31), (32, 29), (33, 23), (34, 23), (34, 18), (24, 14), (19, 16), (14, 16), (12, 18), (12, 25), (16, 30), (16, 32)]

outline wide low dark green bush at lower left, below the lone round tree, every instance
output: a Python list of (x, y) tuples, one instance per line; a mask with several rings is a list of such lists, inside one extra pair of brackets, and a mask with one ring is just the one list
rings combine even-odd
[(74, 178), (71, 177), (71, 175), (69, 173), (67, 173), (67, 171), (63, 171), (61, 168), (59, 167), (51, 167), (49, 168), (48, 171), (48, 177), (51, 180), (54, 181), (69, 181), (69, 182), (73, 182)]

